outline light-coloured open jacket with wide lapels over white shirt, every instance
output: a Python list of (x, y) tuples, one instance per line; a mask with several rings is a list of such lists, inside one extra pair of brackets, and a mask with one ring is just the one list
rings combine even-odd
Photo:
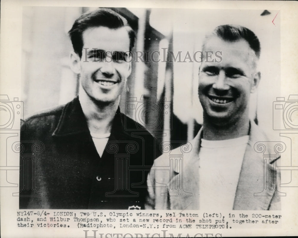
[[(254, 122), (250, 124), (233, 210), (280, 210), (280, 196), (284, 196), (277, 188), (280, 185), (280, 172), (276, 170), (280, 161), (277, 150), (280, 148), (268, 141)], [(202, 132), (203, 128), (191, 142), (155, 160), (148, 175), (146, 209), (204, 209), (199, 206), (198, 174)]]

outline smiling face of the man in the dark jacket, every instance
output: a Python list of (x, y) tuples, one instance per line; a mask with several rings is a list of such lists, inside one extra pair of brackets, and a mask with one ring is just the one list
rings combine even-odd
[(129, 44), (124, 27), (90, 27), (84, 31), (78, 73), (80, 83), (92, 101), (115, 102), (121, 95), (131, 73), (131, 63), (122, 59), (122, 54), (129, 51)]

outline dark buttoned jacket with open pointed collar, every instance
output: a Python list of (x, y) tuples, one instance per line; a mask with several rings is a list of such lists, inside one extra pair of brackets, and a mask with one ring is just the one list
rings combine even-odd
[(20, 209), (144, 209), (159, 153), (154, 137), (119, 108), (102, 157), (78, 97), (22, 123)]

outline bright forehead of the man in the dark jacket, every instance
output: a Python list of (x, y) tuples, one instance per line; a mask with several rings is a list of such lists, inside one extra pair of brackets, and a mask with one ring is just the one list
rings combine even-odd
[(89, 27), (83, 32), (83, 47), (98, 48), (105, 51), (128, 51), (129, 36), (124, 27)]

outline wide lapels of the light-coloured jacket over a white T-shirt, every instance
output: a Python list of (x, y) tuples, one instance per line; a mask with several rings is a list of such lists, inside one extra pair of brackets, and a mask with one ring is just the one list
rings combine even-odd
[[(191, 141), (193, 150), (188, 154), (184, 153), (183, 174), (179, 174), (179, 165), (174, 168), (176, 176), (171, 183), (179, 185), (183, 181), (182, 193), (186, 192), (188, 195), (177, 196), (177, 191), (170, 189), (170, 204), (173, 210), (204, 209), (199, 207), (199, 174), (197, 171), (202, 133), (203, 127)], [(267, 210), (274, 193), (274, 189), (263, 190), (263, 155), (254, 151), (254, 144), (258, 141), (268, 141), (268, 139), (254, 122), (250, 122), (249, 142), (243, 157), (233, 210)], [(267, 176), (271, 176), (269, 179), (274, 179), (272, 177), (274, 173), (269, 170), (270, 168), (267, 167)], [(263, 193), (260, 194), (262, 196), (255, 196), (262, 191)]]

